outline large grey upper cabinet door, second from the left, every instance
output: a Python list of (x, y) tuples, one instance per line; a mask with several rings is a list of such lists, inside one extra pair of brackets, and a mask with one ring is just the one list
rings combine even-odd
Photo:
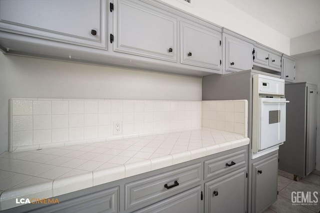
[(137, 1), (115, 0), (114, 6), (114, 51), (176, 62), (172, 14)]

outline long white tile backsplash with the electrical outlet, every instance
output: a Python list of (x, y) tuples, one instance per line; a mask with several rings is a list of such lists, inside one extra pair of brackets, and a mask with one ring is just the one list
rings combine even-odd
[[(114, 133), (120, 121), (121, 134)], [(201, 128), (201, 101), (12, 98), (9, 151)]]

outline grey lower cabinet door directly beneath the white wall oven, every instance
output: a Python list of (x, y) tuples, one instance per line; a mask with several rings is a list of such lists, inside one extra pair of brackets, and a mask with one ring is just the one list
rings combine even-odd
[(277, 197), (277, 154), (252, 164), (252, 213), (268, 208)]

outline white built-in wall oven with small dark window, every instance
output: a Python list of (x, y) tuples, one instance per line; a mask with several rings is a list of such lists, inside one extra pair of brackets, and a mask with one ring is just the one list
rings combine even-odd
[(252, 159), (278, 149), (285, 141), (284, 80), (253, 75)]

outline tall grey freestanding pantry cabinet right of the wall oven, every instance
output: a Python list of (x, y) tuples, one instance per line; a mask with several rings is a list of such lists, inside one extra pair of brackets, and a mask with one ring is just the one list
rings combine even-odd
[(317, 86), (285, 84), (286, 141), (279, 147), (280, 170), (303, 178), (315, 169)]

